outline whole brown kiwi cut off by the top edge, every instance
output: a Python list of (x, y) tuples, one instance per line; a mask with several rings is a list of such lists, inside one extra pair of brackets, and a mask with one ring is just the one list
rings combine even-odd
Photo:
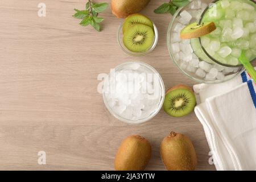
[(130, 14), (138, 13), (150, 0), (112, 0), (112, 13), (117, 18), (126, 18)]

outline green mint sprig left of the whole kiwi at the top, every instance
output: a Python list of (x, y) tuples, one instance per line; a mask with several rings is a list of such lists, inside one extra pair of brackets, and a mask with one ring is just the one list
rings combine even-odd
[(108, 7), (108, 3), (93, 3), (91, 0), (88, 0), (85, 6), (85, 10), (77, 10), (73, 14), (74, 18), (82, 19), (79, 23), (81, 26), (92, 26), (95, 30), (100, 31), (100, 23), (104, 18), (98, 17), (98, 14), (102, 11), (105, 11)]

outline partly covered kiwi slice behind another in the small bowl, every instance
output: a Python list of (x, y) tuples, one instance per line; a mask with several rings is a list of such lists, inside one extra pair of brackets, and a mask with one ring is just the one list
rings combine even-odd
[(153, 23), (149, 18), (142, 14), (137, 13), (129, 15), (125, 19), (125, 22), (123, 22), (123, 33), (125, 33), (131, 26), (133, 26), (136, 23), (146, 24), (147, 26), (150, 26), (152, 29), (154, 29)]

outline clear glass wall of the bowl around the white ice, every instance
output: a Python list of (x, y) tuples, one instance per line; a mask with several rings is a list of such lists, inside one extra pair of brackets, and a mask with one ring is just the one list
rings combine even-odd
[[(117, 72), (117, 71), (123, 69), (124, 67), (127, 67), (127, 66), (129, 66), (133, 63), (138, 63), (138, 64), (141, 65), (141, 67), (144, 67), (144, 69), (147, 69), (149, 72), (151, 72), (153, 74), (156, 73), (156, 74), (159, 75), (159, 86), (160, 86), (160, 93), (161, 94), (160, 94), (160, 98), (159, 98), (158, 107), (154, 111), (152, 111), (152, 113), (147, 118), (142, 118), (142, 119), (138, 119), (138, 120), (134, 121), (134, 120), (131, 120), (131, 119), (126, 119), (126, 118), (121, 117), (118, 113), (116, 113), (112, 109), (112, 107), (109, 106), (107, 98), (106, 98), (106, 94), (104, 92), (102, 93), (102, 96), (103, 96), (103, 101), (104, 101), (104, 104), (105, 104), (106, 108), (108, 109), (109, 113), (112, 114), (115, 118), (117, 118), (118, 120), (120, 120), (122, 122), (129, 123), (129, 124), (141, 124), (141, 123), (147, 122), (150, 119), (154, 118), (155, 115), (159, 113), (160, 109), (163, 106), (164, 96), (166, 94), (166, 91), (165, 91), (165, 88), (164, 88), (164, 82), (163, 82), (162, 77), (160, 76), (160, 74), (155, 70), (155, 68), (151, 67), (151, 65), (148, 65), (146, 63), (142, 63), (140, 61), (126, 62), (126, 63), (120, 64), (117, 67), (115, 67), (114, 71)], [(104, 88), (103, 88), (103, 90), (104, 90)]]

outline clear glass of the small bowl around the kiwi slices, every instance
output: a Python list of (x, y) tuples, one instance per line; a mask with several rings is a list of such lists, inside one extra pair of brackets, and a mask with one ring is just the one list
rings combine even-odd
[(119, 26), (118, 31), (117, 31), (117, 42), (118, 42), (119, 47), (125, 53), (127, 53), (127, 55), (135, 56), (135, 57), (144, 56), (147, 53), (150, 53), (151, 51), (153, 51), (153, 49), (155, 48), (156, 44), (158, 43), (158, 29), (156, 28), (154, 23), (153, 23), (153, 27), (154, 27), (155, 36), (154, 36), (154, 42), (152, 43), (152, 46), (150, 48), (148, 48), (147, 51), (144, 51), (144, 52), (132, 52), (129, 49), (127, 49), (125, 47), (125, 45), (123, 44), (123, 23), (122, 23)]

